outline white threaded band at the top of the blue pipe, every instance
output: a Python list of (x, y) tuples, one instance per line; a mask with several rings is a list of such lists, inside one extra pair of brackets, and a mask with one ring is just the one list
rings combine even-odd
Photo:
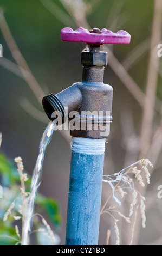
[(105, 153), (106, 139), (90, 139), (72, 137), (72, 151), (88, 155), (102, 155)]

